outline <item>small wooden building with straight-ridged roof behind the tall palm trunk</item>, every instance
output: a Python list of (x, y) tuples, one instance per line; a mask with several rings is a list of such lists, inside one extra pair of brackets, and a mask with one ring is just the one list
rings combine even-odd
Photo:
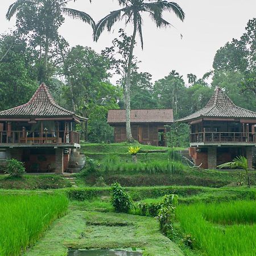
[[(133, 109), (130, 113), (131, 134), (141, 144), (166, 146), (166, 127), (174, 122), (172, 109)], [(126, 110), (112, 109), (108, 123), (114, 127), (114, 141), (126, 141)]]

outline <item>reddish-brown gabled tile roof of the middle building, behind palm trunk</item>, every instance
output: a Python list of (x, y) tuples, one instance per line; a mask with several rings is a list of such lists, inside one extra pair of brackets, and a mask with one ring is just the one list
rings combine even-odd
[[(172, 109), (132, 109), (131, 123), (172, 123), (174, 115)], [(125, 123), (126, 110), (109, 110), (108, 123)]]

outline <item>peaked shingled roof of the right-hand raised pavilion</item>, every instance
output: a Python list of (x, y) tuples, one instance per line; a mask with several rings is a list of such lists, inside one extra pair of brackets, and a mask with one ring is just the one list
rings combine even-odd
[(176, 122), (189, 122), (193, 119), (204, 117), (256, 118), (256, 112), (236, 106), (220, 87), (216, 87), (214, 95), (203, 109), (178, 119)]

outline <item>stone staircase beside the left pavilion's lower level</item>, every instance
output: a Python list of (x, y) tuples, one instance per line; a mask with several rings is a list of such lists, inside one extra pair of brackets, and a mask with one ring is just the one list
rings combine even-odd
[(80, 172), (82, 167), (84, 167), (84, 165), (85, 165), (85, 155), (79, 150), (73, 149), (69, 157), (68, 169), (66, 172), (69, 172), (70, 174)]

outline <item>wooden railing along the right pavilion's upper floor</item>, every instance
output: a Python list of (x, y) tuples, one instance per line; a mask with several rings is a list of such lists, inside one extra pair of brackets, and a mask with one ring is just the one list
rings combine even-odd
[(229, 132), (204, 132), (192, 133), (190, 142), (247, 142), (256, 143), (256, 134), (253, 133), (229, 133)]

